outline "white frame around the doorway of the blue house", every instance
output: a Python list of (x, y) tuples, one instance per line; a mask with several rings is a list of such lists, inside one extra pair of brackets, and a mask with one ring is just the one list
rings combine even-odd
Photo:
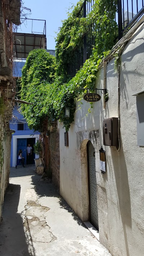
[[(39, 135), (13, 135), (13, 167), (17, 163), (17, 139), (28, 139), (28, 138), (36, 138), (39, 140)], [(35, 155), (36, 158), (39, 158), (39, 155)]]

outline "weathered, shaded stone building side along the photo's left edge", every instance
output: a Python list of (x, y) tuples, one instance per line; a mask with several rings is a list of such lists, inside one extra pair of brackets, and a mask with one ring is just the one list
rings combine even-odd
[(12, 77), (12, 24), (20, 24), (20, 8), (20, 0), (0, 0), (0, 217), (4, 192), (9, 183), (10, 143), (13, 132), (9, 128), (15, 96), (15, 82)]

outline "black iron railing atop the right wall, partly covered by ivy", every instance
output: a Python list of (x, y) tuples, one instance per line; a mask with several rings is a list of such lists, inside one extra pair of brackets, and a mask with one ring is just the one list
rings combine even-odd
[[(86, 17), (94, 8), (95, 0), (85, 0), (77, 17)], [(144, 0), (117, 0), (117, 13), (115, 21), (118, 24), (118, 40), (120, 40), (126, 31), (132, 27), (144, 14)], [(92, 54), (95, 38), (96, 24), (92, 23), (87, 29), (87, 33), (82, 37), (79, 45), (72, 53), (71, 62), (67, 63), (67, 73), (71, 77), (82, 67), (86, 59)]]

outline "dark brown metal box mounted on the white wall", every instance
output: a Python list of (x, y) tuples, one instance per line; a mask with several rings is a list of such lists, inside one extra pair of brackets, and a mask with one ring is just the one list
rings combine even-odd
[(118, 117), (103, 120), (103, 143), (106, 146), (118, 146)]

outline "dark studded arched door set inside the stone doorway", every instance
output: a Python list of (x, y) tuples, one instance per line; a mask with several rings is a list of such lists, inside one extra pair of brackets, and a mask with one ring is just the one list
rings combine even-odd
[(95, 149), (90, 140), (87, 142), (87, 174), (89, 190), (89, 221), (99, 230), (96, 191)]

